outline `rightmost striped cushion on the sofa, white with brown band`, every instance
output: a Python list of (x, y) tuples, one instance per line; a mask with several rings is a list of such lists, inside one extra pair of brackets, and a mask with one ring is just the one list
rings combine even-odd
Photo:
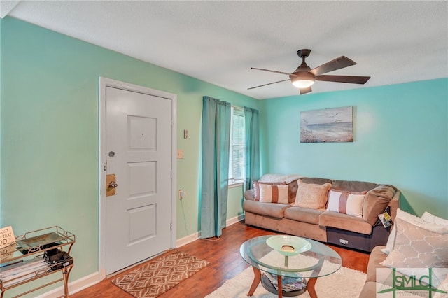
[(365, 193), (366, 192), (330, 190), (330, 193), (328, 194), (327, 210), (363, 218), (363, 201)]

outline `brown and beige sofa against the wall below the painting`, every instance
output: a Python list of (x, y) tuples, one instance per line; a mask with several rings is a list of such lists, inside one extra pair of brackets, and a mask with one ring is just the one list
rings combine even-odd
[[(395, 218), (399, 206), (400, 191), (392, 185), (277, 174), (262, 176), (258, 182), (288, 185), (288, 204), (257, 201), (255, 188), (247, 190), (243, 203), (247, 225), (368, 252), (375, 246), (386, 245), (390, 232), (390, 228), (379, 222), (378, 215), (388, 208)], [(362, 217), (328, 211), (325, 206), (291, 206), (298, 197), (297, 190), (303, 194), (303, 189), (325, 183), (330, 183), (331, 190), (365, 193)]]

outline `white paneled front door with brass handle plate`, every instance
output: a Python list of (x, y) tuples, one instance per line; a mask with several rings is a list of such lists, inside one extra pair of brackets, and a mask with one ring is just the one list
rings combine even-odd
[(106, 274), (171, 246), (172, 100), (106, 87)]

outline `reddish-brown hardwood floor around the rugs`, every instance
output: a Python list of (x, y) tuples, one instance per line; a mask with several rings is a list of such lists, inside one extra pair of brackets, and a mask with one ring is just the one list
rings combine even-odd
[[(276, 232), (249, 227), (244, 222), (238, 222), (223, 229), (223, 235), (220, 239), (200, 239), (186, 246), (182, 246), (179, 250), (185, 253), (200, 257), (210, 262), (197, 274), (187, 278), (176, 287), (168, 290), (160, 297), (204, 297), (219, 288), (223, 283), (239, 274), (241, 271), (249, 267), (239, 255), (239, 246), (247, 239), (256, 236), (271, 235)], [(342, 266), (349, 267), (365, 272), (369, 254), (360, 253), (354, 250), (330, 246), (342, 257)], [(132, 270), (132, 269), (131, 269)], [(125, 272), (121, 273), (125, 274)], [(114, 276), (115, 277), (115, 276)], [(120, 288), (111, 283), (111, 278), (87, 288), (83, 291), (71, 295), (71, 298), (97, 298), (97, 297), (120, 297), (132, 298)], [(249, 287), (250, 285), (248, 285)]]

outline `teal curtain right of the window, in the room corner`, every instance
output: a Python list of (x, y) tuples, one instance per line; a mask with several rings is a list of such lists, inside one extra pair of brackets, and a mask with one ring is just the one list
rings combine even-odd
[(258, 110), (244, 107), (246, 127), (246, 190), (252, 187), (253, 181), (260, 178), (260, 128)]

